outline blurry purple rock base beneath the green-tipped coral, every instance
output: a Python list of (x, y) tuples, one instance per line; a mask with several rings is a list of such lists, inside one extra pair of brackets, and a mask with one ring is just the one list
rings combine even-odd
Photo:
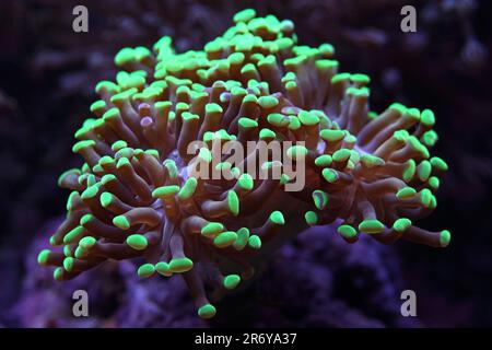
[[(183, 279), (141, 279), (131, 260), (104, 264), (65, 283), (54, 281), (49, 269), (36, 268), (35, 253), (46, 248), (46, 233), (61, 222), (50, 221), (30, 244), (21, 296), (5, 315), (11, 327), (419, 325), (400, 314), (398, 254), (370, 236), (348, 245), (330, 225), (306, 230), (274, 252), (248, 288), (226, 295), (210, 323), (196, 317)], [(80, 289), (90, 295), (89, 318), (71, 312), (72, 294)]]

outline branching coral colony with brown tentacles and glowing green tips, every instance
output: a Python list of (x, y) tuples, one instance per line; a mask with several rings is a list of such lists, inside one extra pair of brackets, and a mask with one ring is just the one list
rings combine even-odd
[[(248, 9), (234, 22), (203, 50), (177, 54), (163, 37), (116, 55), (121, 71), (97, 84), (94, 117), (75, 132), (85, 163), (59, 178), (71, 190), (50, 238), (59, 250), (38, 256), (56, 280), (138, 258), (142, 278), (183, 276), (210, 318), (212, 302), (308, 225), (335, 224), (349, 243), (449, 244), (448, 231), (413, 224), (447, 170), (429, 151), (434, 114), (370, 110), (370, 78), (339, 72), (329, 44), (298, 45), (289, 20)], [(258, 147), (232, 162), (220, 147), (231, 141)], [(280, 160), (274, 142), (290, 142)], [(296, 177), (302, 189), (288, 190)]]

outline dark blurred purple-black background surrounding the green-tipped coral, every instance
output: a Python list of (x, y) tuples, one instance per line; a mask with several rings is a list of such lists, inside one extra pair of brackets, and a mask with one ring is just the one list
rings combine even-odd
[[(77, 4), (89, 9), (89, 33), (72, 31)], [(400, 31), (406, 4), (417, 8), (417, 33)], [(65, 212), (56, 182), (80, 165), (73, 133), (95, 84), (114, 79), (114, 55), (162, 35), (179, 51), (199, 49), (247, 7), (294, 21), (301, 43), (331, 43), (342, 71), (372, 77), (373, 109), (398, 101), (434, 110), (434, 152), (450, 168), (421, 225), (449, 229), (450, 246), (347, 245), (329, 228), (311, 230), (211, 323), (198, 319), (180, 279), (139, 280), (129, 261), (55, 283), (37, 252)], [(478, 0), (0, 0), (0, 326), (492, 326), (491, 13)], [(87, 318), (71, 314), (80, 288)], [(417, 317), (400, 314), (406, 289)]]

